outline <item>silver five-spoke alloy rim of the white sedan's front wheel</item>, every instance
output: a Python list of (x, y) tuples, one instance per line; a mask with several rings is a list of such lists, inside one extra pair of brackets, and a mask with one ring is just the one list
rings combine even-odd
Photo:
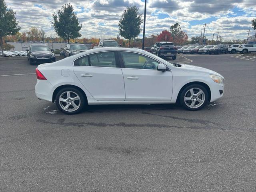
[(186, 106), (190, 108), (198, 108), (204, 104), (204, 101), (205, 94), (204, 91), (200, 88), (191, 88), (186, 92), (184, 96), (184, 102)]

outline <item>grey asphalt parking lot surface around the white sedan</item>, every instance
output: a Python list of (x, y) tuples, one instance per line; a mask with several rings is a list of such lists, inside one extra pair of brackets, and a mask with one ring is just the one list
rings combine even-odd
[(0, 61), (0, 191), (255, 191), (256, 62), (185, 58), (225, 77), (220, 100), (195, 112), (109, 105), (72, 116), (36, 98), (36, 66)]

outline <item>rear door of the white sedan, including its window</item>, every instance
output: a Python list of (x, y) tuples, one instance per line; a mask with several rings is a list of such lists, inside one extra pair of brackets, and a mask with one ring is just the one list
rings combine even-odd
[(74, 61), (78, 80), (98, 101), (124, 101), (124, 78), (116, 52), (106, 51), (83, 56)]

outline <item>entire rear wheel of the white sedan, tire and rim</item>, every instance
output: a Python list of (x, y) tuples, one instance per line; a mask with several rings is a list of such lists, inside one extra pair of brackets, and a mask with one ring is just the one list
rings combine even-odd
[[(70, 95), (69, 97), (68, 92)], [(63, 101), (60, 101), (61, 98), (63, 99)], [(77, 99), (73, 100), (73, 98)], [(59, 90), (55, 97), (55, 103), (61, 112), (68, 115), (77, 114), (81, 112), (87, 105), (84, 94), (80, 92), (80, 90), (72, 87), (67, 87)], [(65, 109), (66, 106), (68, 106), (68, 108)]]

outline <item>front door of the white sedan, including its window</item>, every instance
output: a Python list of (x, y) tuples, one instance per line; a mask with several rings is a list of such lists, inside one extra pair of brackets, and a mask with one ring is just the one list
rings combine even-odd
[(126, 101), (170, 101), (171, 71), (158, 71), (160, 62), (134, 52), (119, 52)]

